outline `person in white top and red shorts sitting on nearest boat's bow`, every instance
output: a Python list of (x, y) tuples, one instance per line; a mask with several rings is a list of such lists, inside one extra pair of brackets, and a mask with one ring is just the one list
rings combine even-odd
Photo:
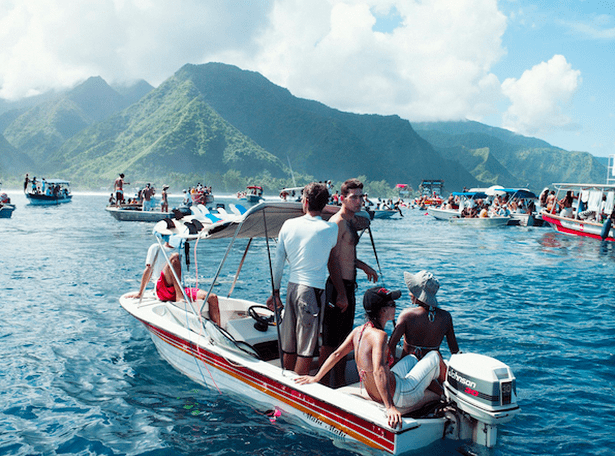
[[(158, 234), (159, 235), (159, 234)], [(153, 243), (145, 258), (145, 270), (141, 276), (141, 285), (137, 293), (131, 293), (126, 295), (127, 298), (141, 299), (145, 287), (153, 277), (156, 280), (156, 296), (161, 301), (173, 301), (179, 302), (184, 299), (181, 285), (175, 280), (171, 266), (177, 275), (177, 278), (181, 281), (181, 261), (177, 249), (181, 244), (181, 238), (175, 235), (159, 235), (161, 236), (164, 244), (160, 245), (158, 242)], [(162, 252), (164, 249), (165, 253)], [(166, 255), (165, 255), (166, 254)], [(168, 262), (166, 261), (168, 257)], [(186, 295), (190, 297), (192, 301), (205, 300), (207, 293), (198, 288), (184, 289)], [(218, 296), (214, 293), (209, 295), (207, 299), (209, 305), (209, 317), (217, 325), (220, 325), (220, 308), (218, 304)]]

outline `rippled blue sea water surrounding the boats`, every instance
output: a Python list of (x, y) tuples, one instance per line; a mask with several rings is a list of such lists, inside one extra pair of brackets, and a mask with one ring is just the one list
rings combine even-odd
[[(138, 288), (151, 224), (114, 220), (106, 195), (48, 208), (9, 196), (17, 210), (0, 219), (1, 455), (353, 454), (284, 416), (271, 423), (161, 359), (118, 303)], [(372, 225), (386, 286), (403, 289), (403, 271), (433, 271), (461, 349), (508, 364), (522, 408), (494, 449), (447, 440), (417, 454), (612, 454), (615, 245), (404, 215)], [(190, 269), (201, 285), (226, 242), (204, 244)], [(234, 296), (268, 296), (265, 252), (262, 242), (252, 249)], [(367, 236), (359, 257), (376, 265)], [(406, 290), (400, 304), (409, 305)]]

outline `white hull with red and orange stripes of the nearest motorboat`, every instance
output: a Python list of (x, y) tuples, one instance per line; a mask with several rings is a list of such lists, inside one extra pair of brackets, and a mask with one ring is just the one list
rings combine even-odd
[[(401, 454), (444, 437), (445, 417), (404, 418), (403, 428), (393, 431), (387, 424), (384, 407), (360, 397), (356, 387), (334, 390), (320, 384), (297, 385), (293, 381), (296, 374), (280, 369), (278, 360), (258, 360), (225, 346), (211, 323), (206, 323), (208, 333), (200, 329), (199, 335), (178, 324), (178, 318), (173, 317), (169, 310), (170, 304), (154, 299), (144, 299), (141, 307), (136, 299), (122, 298), (120, 302), (145, 325), (160, 355), (178, 371), (202, 385), (217, 388), (251, 404), (262, 404), (263, 410), (277, 409), (283, 419), (300, 420), (328, 434), (336, 444), (355, 450), (367, 445), (387, 453)], [(223, 314), (225, 307), (245, 311), (252, 304), (255, 303), (220, 298)], [(235, 316), (244, 311), (235, 311)], [(186, 314), (181, 312), (185, 319)], [(197, 326), (194, 315), (189, 316), (191, 323)], [(235, 326), (244, 329), (252, 325), (250, 317), (233, 321)], [(233, 330), (232, 327), (227, 329)], [(262, 338), (263, 333), (251, 332)], [(268, 333), (269, 338), (276, 337), (273, 327)], [(212, 339), (215, 342), (212, 343)]]

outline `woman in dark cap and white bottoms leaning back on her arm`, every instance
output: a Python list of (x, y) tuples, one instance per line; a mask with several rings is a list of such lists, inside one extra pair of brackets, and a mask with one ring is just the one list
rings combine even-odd
[(367, 322), (352, 330), (315, 376), (300, 376), (295, 382), (304, 385), (320, 381), (340, 359), (354, 350), (361, 385), (372, 400), (384, 404), (392, 428), (401, 427), (399, 409), (416, 409), (431, 400), (438, 400), (442, 388), (436, 381), (443, 382), (446, 378), (446, 365), (437, 351), (428, 353), (420, 361), (406, 357), (391, 367), (394, 359), (384, 326), (395, 318), (395, 300), (400, 296), (399, 290), (368, 289), (363, 296)]

